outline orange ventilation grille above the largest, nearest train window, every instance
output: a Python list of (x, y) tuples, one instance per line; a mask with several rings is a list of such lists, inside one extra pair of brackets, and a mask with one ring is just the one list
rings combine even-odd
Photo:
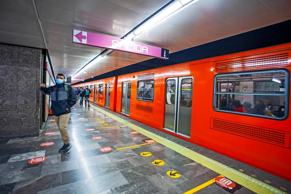
[(288, 53), (264, 54), (259, 57), (214, 62), (214, 72), (242, 71), (282, 65), (288, 65)]

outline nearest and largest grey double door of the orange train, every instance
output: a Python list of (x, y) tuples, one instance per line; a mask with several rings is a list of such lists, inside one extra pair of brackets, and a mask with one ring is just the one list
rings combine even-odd
[(164, 128), (190, 138), (193, 77), (168, 78)]

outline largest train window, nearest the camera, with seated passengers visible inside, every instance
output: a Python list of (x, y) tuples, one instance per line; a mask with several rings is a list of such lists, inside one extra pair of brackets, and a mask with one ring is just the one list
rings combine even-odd
[(288, 113), (289, 73), (285, 70), (215, 76), (214, 109), (273, 119)]

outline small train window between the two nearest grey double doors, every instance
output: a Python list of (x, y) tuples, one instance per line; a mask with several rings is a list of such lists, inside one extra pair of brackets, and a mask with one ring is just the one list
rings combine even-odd
[(137, 82), (136, 99), (152, 102), (154, 100), (154, 81), (143, 80)]

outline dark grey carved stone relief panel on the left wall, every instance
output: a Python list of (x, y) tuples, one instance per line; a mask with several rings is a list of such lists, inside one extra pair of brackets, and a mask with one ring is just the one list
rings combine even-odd
[(41, 49), (0, 44), (0, 137), (37, 135)]

